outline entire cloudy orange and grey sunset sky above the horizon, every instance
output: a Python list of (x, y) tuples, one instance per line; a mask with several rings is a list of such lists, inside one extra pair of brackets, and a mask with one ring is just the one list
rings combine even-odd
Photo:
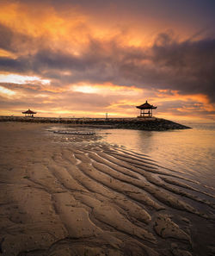
[(215, 121), (215, 1), (0, 0), (0, 115)]

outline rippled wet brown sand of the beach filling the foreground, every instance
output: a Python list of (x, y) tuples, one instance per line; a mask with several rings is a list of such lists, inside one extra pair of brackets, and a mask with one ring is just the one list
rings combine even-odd
[(0, 123), (0, 255), (215, 255), (212, 188), (50, 126)]

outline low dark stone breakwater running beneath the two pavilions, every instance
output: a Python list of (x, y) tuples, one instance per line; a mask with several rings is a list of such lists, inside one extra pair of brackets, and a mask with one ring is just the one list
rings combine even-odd
[(64, 123), (72, 126), (92, 128), (126, 128), (148, 131), (166, 131), (171, 129), (187, 129), (185, 125), (163, 118), (54, 118), (54, 117), (23, 117), (0, 116), (0, 122), (35, 122)]

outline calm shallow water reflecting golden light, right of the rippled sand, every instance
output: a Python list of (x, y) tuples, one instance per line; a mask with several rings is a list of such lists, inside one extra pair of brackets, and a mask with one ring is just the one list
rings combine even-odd
[(147, 154), (160, 165), (215, 187), (215, 124), (187, 125), (193, 129), (165, 132), (109, 129), (100, 133), (108, 143)]

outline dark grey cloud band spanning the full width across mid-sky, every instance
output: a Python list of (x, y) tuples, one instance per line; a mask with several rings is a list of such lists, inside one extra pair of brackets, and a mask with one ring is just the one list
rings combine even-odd
[[(10, 50), (12, 44), (20, 44), (20, 34), (3, 26), (0, 34), (5, 35), (2, 48)], [(31, 39), (23, 41), (26, 48), (32, 47)], [(122, 45), (117, 37), (109, 41), (89, 38), (79, 54), (41, 48), (41, 44), (35, 53), (20, 57), (18, 53), (16, 59), (0, 58), (1, 71), (39, 75), (51, 79), (56, 87), (110, 82), (185, 95), (205, 94), (215, 103), (215, 39), (177, 41), (173, 34), (159, 34), (152, 47), (143, 48)]]

